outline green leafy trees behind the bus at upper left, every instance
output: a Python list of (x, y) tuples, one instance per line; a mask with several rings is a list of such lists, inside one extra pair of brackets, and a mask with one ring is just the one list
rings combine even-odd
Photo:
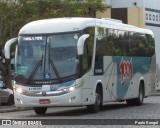
[[(17, 37), (26, 23), (55, 17), (94, 17), (105, 9), (102, 0), (1, 0), (0, 1), (0, 71), (2, 79), (11, 89), (10, 60), (4, 61), (5, 42)], [(14, 47), (12, 47), (14, 51)], [(4, 62), (2, 62), (2, 60)]]

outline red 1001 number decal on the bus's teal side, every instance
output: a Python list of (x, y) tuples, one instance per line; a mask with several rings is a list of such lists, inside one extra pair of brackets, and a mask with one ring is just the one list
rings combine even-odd
[(132, 79), (132, 61), (121, 61), (120, 63), (121, 82), (125, 79)]

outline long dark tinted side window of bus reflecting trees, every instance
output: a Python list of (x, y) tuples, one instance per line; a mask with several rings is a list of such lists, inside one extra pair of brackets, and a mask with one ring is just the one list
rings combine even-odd
[(140, 56), (154, 54), (154, 38), (148, 34), (97, 28), (96, 61), (103, 56)]

